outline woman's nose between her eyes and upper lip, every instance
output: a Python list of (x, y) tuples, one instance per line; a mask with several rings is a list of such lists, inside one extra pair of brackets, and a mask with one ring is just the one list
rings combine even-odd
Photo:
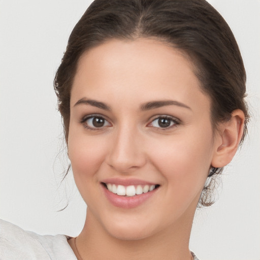
[(119, 173), (130, 173), (146, 164), (143, 136), (127, 126), (113, 133), (107, 164)]

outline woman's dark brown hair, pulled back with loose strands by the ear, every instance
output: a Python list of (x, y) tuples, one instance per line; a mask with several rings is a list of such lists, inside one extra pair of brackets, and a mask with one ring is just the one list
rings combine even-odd
[[(70, 93), (81, 55), (110, 39), (156, 38), (186, 54), (202, 90), (211, 99), (213, 129), (229, 120), (235, 109), (245, 114), (246, 73), (235, 37), (222, 16), (205, 0), (95, 0), (74, 27), (54, 88), (63, 119), (66, 141), (70, 123)], [(200, 204), (212, 205), (213, 168), (204, 186)]]

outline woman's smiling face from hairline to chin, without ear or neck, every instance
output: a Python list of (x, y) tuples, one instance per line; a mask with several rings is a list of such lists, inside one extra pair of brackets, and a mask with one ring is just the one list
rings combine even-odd
[(151, 39), (82, 55), (69, 157), (87, 217), (107, 234), (145, 238), (192, 221), (216, 147), (199, 84), (190, 61)]

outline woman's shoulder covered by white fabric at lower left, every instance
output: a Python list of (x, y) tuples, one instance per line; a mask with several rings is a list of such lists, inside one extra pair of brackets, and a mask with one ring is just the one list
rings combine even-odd
[(41, 236), (0, 219), (0, 258), (77, 260), (67, 236)]

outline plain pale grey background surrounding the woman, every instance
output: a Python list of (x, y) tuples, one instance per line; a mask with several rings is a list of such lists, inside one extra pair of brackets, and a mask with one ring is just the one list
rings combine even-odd
[[(52, 82), (91, 1), (0, 0), (0, 217), (40, 234), (76, 236), (85, 205), (68, 160)], [(231, 26), (247, 71), (249, 136), (217, 202), (196, 213), (190, 249), (203, 260), (260, 259), (260, 1), (209, 1)], [(58, 212), (69, 202), (66, 210)]]

